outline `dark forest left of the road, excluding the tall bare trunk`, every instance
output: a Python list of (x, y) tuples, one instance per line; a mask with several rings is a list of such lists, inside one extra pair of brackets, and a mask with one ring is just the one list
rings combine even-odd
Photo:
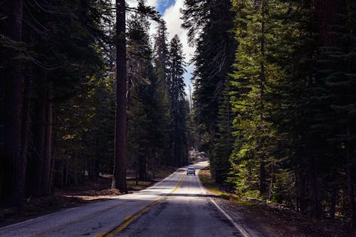
[[(113, 9), (106, 0), (1, 1), (1, 206), (112, 174)], [(179, 38), (167, 43), (164, 21), (144, 1), (129, 10), (125, 169), (147, 180), (159, 166), (187, 163), (184, 57)], [(149, 17), (159, 21), (155, 38)]]

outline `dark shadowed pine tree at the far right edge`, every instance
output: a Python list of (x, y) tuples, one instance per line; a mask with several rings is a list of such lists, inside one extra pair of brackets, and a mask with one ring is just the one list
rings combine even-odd
[[(347, 216), (350, 216), (351, 228), (356, 226), (355, 190), (352, 172), (353, 148), (355, 147), (355, 4), (351, 1), (316, 1), (320, 38), (323, 43), (319, 76), (323, 83), (317, 98), (328, 103), (328, 108), (318, 112), (318, 124), (323, 130), (328, 145), (333, 147), (329, 169), (323, 170), (328, 184), (333, 186), (333, 199), (336, 199), (337, 176), (345, 179), (347, 192)], [(342, 171), (342, 172), (340, 172)], [(334, 184), (333, 184), (334, 183)], [(340, 184), (339, 184), (340, 185)], [(342, 184), (340, 185), (342, 186)], [(332, 208), (335, 215), (336, 200)]]

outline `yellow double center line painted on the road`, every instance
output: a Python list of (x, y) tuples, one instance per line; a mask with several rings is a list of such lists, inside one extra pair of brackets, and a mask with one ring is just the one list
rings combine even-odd
[[(180, 179), (179, 183), (177, 184), (177, 186), (170, 192), (170, 194), (173, 194), (175, 191), (177, 191), (177, 189), (179, 189), (179, 186), (181, 186), (184, 177), (186, 176), (186, 174), (183, 174), (182, 179)], [(114, 236), (116, 233), (119, 233), (120, 231), (122, 231), (124, 228), (126, 228), (128, 225), (130, 225), (130, 223), (132, 223), (132, 221), (135, 221), (137, 218), (139, 218), (140, 216), (142, 216), (142, 214), (144, 214), (146, 211), (148, 211), (148, 209), (150, 209), (150, 207), (155, 206), (156, 204), (159, 203), (159, 201), (162, 201), (164, 199), (166, 199), (167, 196), (162, 196), (161, 198), (152, 201), (152, 203), (148, 204), (147, 206), (143, 207), (140, 211), (137, 211), (136, 214), (134, 214), (133, 216), (127, 216), (125, 218), (125, 221), (123, 223), (121, 223), (119, 226), (113, 228), (111, 231), (105, 231), (103, 233), (99, 233), (98, 235), (94, 236), (94, 237), (111, 237)]]

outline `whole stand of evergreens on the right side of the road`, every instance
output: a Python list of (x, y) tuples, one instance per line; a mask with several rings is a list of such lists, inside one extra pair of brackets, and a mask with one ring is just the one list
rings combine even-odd
[(241, 196), (355, 227), (356, 4), (184, 1), (195, 144)]

